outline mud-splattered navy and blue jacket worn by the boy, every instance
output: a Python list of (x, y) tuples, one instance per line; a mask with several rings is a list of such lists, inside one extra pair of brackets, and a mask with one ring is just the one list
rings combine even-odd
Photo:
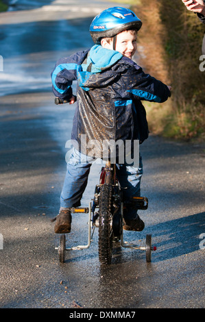
[[(143, 143), (149, 130), (141, 101), (162, 103), (170, 96), (165, 84), (145, 74), (135, 62), (100, 45), (60, 59), (51, 77), (53, 93), (62, 99), (71, 98), (71, 85), (77, 80), (71, 139), (82, 153), (95, 157), (101, 157), (104, 140)], [(83, 134), (87, 143), (95, 142), (86, 150), (81, 145)]]

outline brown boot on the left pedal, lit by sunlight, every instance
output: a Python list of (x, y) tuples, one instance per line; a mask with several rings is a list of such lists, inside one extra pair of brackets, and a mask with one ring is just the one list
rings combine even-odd
[(71, 212), (68, 209), (60, 210), (58, 216), (51, 221), (56, 221), (54, 232), (56, 234), (67, 234), (71, 232)]

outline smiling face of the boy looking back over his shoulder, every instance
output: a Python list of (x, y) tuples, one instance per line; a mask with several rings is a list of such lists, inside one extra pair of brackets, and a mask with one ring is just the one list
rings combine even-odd
[[(101, 42), (102, 47), (106, 47), (108, 49), (113, 49), (112, 44), (113, 42)], [(125, 30), (118, 34), (115, 50), (132, 59), (132, 56), (136, 51), (136, 32)]]

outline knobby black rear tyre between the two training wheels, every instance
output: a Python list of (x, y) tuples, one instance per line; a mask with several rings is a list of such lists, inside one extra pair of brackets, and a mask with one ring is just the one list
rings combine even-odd
[(112, 260), (112, 225), (111, 225), (112, 185), (104, 184), (99, 197), (99, 262), (110, 264)]

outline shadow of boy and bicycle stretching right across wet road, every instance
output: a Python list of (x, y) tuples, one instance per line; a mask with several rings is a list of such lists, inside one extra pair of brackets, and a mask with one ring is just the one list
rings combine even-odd
[[(142, 244), (145, 243), (145, 234), (152, 234), (153, 245), (157, 247), (157, 251), (152, 252), (153, 263), (183, 256), (200, 250), (200, 242), (202, 241), (200, 235), (205, 232), (205, 212), (159, 223), (148, 227), (147, 230), (146, 232), (140, 233), (141, 235), (138, 234), (137, 237), (141, 238), (140, 244)], [(97, 232), (95, 234), (97, 235)], [(125, 238), (129, 243), (132, 243), (136, 239), (135, 232), (125, 234)], [(69, 236), (69, 238), (71, 238), (69, 239), (69, 243), (72, 243), (73, 237)], [(84, 251), (83, 253), (82, 251), (79, 255), (78, 251), (71, 251), (70, 254), (72, 253), (72, 255), (67, 257), (65, 265), (72, 262), (83, 262), (89, 259), (98, 260), (97, 240), (93, 244), (91, 244), (90, 248), (90, 250), (93, 248), (93, 252)], [(112, 264), (107, 267), (104, 266), (106, 271), (123, 262), (128, 263), (141, 259), (145, 261), (145, 251), (123, 249), (120, 243), (114, 243), (112, 253)]]

